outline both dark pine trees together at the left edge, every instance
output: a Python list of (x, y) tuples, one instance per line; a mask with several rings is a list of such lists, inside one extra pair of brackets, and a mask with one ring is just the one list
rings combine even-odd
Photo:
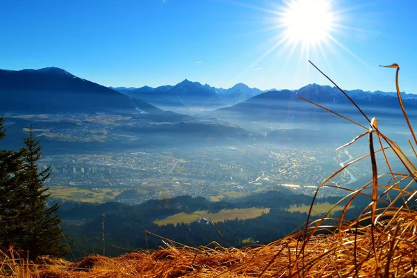
[(40, 169), (40, 138), (32, 128), (18, 150), (3, 149), (6, 125), (0, 117), (0, 250), (13, 247), (16, 252), (37, 256), (65, 256), (66, 236), (56, 215), (58, 204), (49, 206), (48, 188), (43, 183), (51, 174), (49, 167)]

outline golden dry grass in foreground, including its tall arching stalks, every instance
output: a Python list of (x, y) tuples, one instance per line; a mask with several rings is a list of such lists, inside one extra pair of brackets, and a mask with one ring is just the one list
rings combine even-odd
[[(398, 65), (397, 90), (398, 88)], [(326, 76), (327, 77), (327, 76)], [(329, 79), (330, 80), (330, 79)], [(330, 80), (331, 81), (331, 80)], [(333, 82), (333, 81), (332, 81)], [(336, 85), (336, 84), (334, 84)], [(337, 86), (337, 85), (336, 85)], [(341, 89), (340, 89), (341, 90)], [(341, 90), (343, 92), (343, 90)], [(343, 92), (344, 93), (344, 92)], [(346, 95), (347, 96), (347, 95)], [(348, 97), (348, 96), (347, 96)], [(350, 99), (350, 97), (348, 97)], [(352, 99), (350, 99), (352, 101)], [(354, 102), (352, 101), (352, 104)], [(379, 131), (375, 118), (370, 119), (354, 104), (359, 113), (368, 122), (364, 126), (342, 115), (345, 120), (357, 124), (368, 136), (369, 154), (373, 165), (372, 180), (358, 190), (346, 190), (343, 197), (347, 204), (341, 217), (333, 219), (337, 224), (329, 225), (328, 213), (321, 219), (310, 221), (313, 205), (305, 228), (295, 234), (277, 240), (269, 245), (252, 249), (224, 248), (215, 243), (215, 247), (188, 247), (172, 243), (161, 238), (165, 247), (151, 252), (142, 251), (126, 254), (115, 259), (104, 256), (90, 256), (79, 263), (30, 263), (13, 259), (13, 252), (0, 254), (0, 275), (10, 277), (417, 277), (417, 212), (409, 208), (415, 202), (417, 191), (412, 187), (417, 179), (417, 169), (402, 149)], [(402, 106), (404, 118), (409, 126), (414, 142), (409, 140), (414, 150), (417, 140)], [(329, 110), (327, 110), (329, 111)], [(329, 111), (334, 113), (333, 111)], [(334, 113), (336, 114), (336, 113)], [(336, 114), (338, 115), (338, 114)], [(376, 138), (375, 138), (376, 136)], [(379, 147), (376, 147), (375, 142)], [(378, 173), (375, 154), (393, 152), (407, 169), (407, 173), (394, 173), (388, 159), (385, 163), (390, 172)], [(417, 157), (416, 152), (414, 154)], [(343, 166), (318, 186), (341, 173), (355, 161)], [(379, 177), (389, 175), (388, 184), (379, 184)], [(400, 183), (402, 186), (400, 187)], [(404, 186), (405, 184), (405, 186)], [(371, 192), (368, 194), (368, 192)], [(358, 195), (370, 199), (368, 207), (353, 221), (344, 219), (345, 212)], [(402, 201), (400, 206), (397, 201)], [(384, 204), (384, 206), (377, 206)], [(312, 202), (312, 204), (314, 201)], [(340, 205), (334, 204), (334, 207)], [(329, 234), (320, 235), (318, 231), (328, 230)]]

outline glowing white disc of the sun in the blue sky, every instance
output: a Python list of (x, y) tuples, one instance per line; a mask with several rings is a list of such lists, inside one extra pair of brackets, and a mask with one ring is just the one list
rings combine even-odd
[(288, 1), (280, 14), (284, 38), (290, 43), (320, 44), (330, 38), (334, 28), (334, 13), (329, 0)]

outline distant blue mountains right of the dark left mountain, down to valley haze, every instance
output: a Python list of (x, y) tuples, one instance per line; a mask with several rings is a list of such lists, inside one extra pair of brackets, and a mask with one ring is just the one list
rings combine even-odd
[[(224, 89), (186, 79), (174, 86), (165, 85), (158, 88), (145, 86), (133, 90), (127, 88), (118, 90), (131, 97), (138, 97), (155, 106), (170, 108), (173, 111), (193, 106), (212, 110), (208, 115), (245, 126), (247, 129), (253, 126), (252, 122), (280, 122), (286, 125), (304, 122), (311, 125), (338, 120), (338, 117), (329, 117), (328, 112), (303, 101), (300, 97), (334, 109), (355, 120), (363, 119), (345, 95), (338, 88), (329, 85), (309, 84), (298, 90), (263, 91), (249, 88), (243, 83)], [(398, 111), (396, 92), (363, 90), (346, 90), (345, 92), (370, 117), (392, 119), (402, 115)], [(401, 94), (407, 111), (411, 115), (416, 113), (417, 95), (405, 92)], [(190, 110), (181, 112), (193, 113)]]

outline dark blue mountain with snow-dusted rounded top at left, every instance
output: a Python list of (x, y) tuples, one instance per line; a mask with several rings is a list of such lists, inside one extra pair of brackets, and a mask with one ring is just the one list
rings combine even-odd
[(0, 111), (12, 113), (154, 113), (158, 108), (65, 70), (0, 70)]

